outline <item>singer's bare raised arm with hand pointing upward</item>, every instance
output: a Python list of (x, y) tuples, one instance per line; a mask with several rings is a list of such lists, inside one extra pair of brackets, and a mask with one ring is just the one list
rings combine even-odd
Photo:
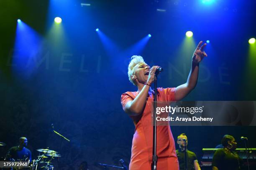
[(203, 60), (204, 57), (207, 57), (207, 54), (203, 50), (206, 46), (206, 43), (202, 46), (202, 41), (199, 42), (197, 48), (192, 57), (192, 66), (187, 78), (187, 82), (183, 85), (179, 85), (175, 91), (176, 100), (182, 100), (186, 97), (189, 92), (191, 92), (197, 85), (198, 71), (199, 71), (199, 62)]

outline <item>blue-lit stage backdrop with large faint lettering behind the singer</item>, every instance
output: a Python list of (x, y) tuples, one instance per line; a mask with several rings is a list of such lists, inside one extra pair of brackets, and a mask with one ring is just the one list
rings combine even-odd
[[(158, 13), (148, 1), (97, 1), (99, 6), (91, 8), (75, 2), (64, 5), (66, 13), (57, 13), (63, 20), (58, 28), (48, 1), (0, 5), (0, 142), (7, 144), (0, 147), (0, 157), (25, 136), (33, 159), (39, 148), (59, 152), (61, 158), (54, 160), (59, 170), (76, 170), (82, 161), (90, 170), (102, 169), (97, 163), (120, 165), (120, 159), (128, 164), (134, 125), (122, 110), (120, 96), (137, 90), (127, 75), (132, 55), (164, 68), (159, 87), (177, 87), (187, 80), (197, 43), (210, 40), (197, 87), (184, 100), (256, 100), (255, 80), (246, 76), (248, 37), (255, 26), (244, 27), (250, 23), (244, 20), (247, 13), (242, 7), (237, 8), (241, 16), (231, 10), (216, 16), (189, 15), (192, 8), (186, 13), (175, 7)], [(26, 30), (19, 30), (17, 18)], [(248, 18), (255, 20), (250, 13)], [(190, 40), (187, 30), (194, 32)], [(152, 36), (147, 38), (148, 34)], [(251, 74), (255, 77), (255, 72)], [(70, 142), (53, 133), (51, 124)], [(199, 160), (202, 148), (215, 148), (225, 134), (236, 138), (238, 148), (244, 148), (241, 136), (256, 148), (255, 127), (171, 129), (174, 140), (187, 134), (188, 148)]]

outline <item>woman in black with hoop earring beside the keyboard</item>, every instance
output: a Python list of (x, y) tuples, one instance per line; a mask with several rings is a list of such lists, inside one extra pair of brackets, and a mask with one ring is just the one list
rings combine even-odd
[(224, 135), (221, 144), (224, 148), (215, 151), (212, 158), (212, 170), (241, 170), (243, 160), (235, 152), (236, 140), (231, 135)]

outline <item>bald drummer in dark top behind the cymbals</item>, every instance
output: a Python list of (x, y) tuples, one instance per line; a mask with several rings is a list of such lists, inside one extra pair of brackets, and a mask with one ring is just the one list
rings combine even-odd
[(23, 160), (31, 162), (31, 152), (28, 148), (26, 148), (28, 144), (28, 140), (25, 137), (21, 137), (19, 139), (19, 145), (14, 146), (9, 149), (8, 153), (6, 154), (7, 160)]

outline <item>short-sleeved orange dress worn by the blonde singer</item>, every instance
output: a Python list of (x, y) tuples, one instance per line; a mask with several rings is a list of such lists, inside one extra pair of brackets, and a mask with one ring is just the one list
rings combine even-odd
[[(175, 88), (157, 88), (158, 102), (175, 101)], [(133, 100), (138, 92), (125, 92), (121, 96), (123, 109), (128, 101)], [(133, 143), (131, 149), (131, 162), (129, 170), (151, 170), (152, 147), (153, 147), (153, 126), (152, 112), (153, 94), (148, 94), (148, 99), (141, 115), (130, 116), (135, 125)], [(175, 143), (170, 126), (157, 126), (156, 154), (157, 170), (179, 170), (179, 162), (175, 151)]]

